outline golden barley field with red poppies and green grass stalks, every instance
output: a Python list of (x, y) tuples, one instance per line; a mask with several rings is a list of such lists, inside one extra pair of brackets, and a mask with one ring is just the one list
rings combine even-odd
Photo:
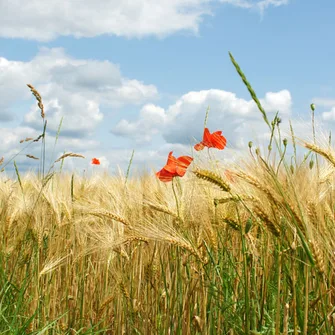
[[(229, 166), (174, 153), (157, 175), (87, 178), (56, 170), (81, 159), (65, 153), (46, 171), (29, 85), (41, 168), (1, 166), (1, 334), (335, 333), (331, 138), (315, 141), (314, 105), (312, 140), (284, 138), (230, 57), (271, 138)], [(196, 150), (223, 150), (218, 130)]]

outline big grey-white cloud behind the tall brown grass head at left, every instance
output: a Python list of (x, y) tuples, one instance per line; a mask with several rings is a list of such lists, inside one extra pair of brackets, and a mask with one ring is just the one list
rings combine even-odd
[[(63, 135), (90, 136), (102, 121), (100, 105), (120, 107), (155, 99), (157, 89), (135, 79), (122, 77), (118, 66), (109, 61), (79, 60), (62, 48), (41, 48), (29, 62), (0, 58), (0, 107), (8, 110), (18, 97), (32, 99), (25, 85), (31, 83), (42, 96), (49, 131), (56, 132), (64, 117)], [(0, 118), (10, 120), (9, 112)], [(24, 123), (41, 128), (40, 113), (34, 102)]]

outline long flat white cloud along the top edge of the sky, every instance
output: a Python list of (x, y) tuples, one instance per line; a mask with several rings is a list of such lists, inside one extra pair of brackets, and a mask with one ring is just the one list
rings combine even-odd
[[(210, 5), (228, 3), (242, 8), (280, 6), (288, 0), (31, 0), (0, 1), (0, 37), (50, 41), (58, 36), (164, 37), (178, 31), (198, 32)], [(15, 19), (13, 19), (15, 18)]]

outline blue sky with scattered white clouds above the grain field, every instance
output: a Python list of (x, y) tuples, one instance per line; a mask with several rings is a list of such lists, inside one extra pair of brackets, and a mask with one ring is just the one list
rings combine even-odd
[[(210, 131), (228, 140), (216, 157), (229, 160), (268, 132), (228, 51), (284, 130), (291, 119), (310, 136), (312, 102), (318, 129), (335, 130), (334, 10), (331, 0), (0, 2), (0, 157), (41, 132), (30, 83), (42, 95), (50, 152), (64, 118), (55, 159), (86, 157), (68, 169), (92, 169), (97, 157), (101, 171), (125, 171), (135, 150), (134, 169), (158, 171), (169, 151), (194, 153), (207, 106)], [(39, 156), (40, 146), (24, 153)], [(24, 154), (16, 161), (38, 166)]]

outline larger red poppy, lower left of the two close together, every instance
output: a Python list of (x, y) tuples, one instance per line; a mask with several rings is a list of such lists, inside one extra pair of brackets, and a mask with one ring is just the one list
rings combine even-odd
[(169, 153), (167, 163), (163, 169), (156, 173), (159, 180), (163, 182), (171, 181), (173, 177), (183, 177), (186, 173), (186, 169), (193, 161), (193, 158), (189, 156), (176, 158), (172, 156), (172, 152), (173, 151)]

